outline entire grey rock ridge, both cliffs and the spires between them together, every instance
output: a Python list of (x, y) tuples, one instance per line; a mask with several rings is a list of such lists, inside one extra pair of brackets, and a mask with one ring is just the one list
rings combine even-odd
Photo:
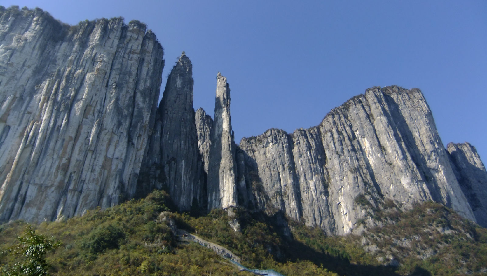
[(243, 206), (329, 235), (425, 201), (487, 226), (485, 167), (469, 144), (445, 149), (419, 89), (369, 88), (318, 126), (237, 145), (226, 78), (214, 118), (195, 112), (184, 52), (156, 107), (163, 50), (138, 21), (67, 26), (0, 9), (0, 41), (1, 221), (72, 217), (167, 188), (180, 211)]

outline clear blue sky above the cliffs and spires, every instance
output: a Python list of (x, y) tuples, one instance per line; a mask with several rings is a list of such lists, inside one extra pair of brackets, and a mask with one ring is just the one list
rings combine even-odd
[[(227, 77), (235, 139), (318, 125), (372, 86), (418, 87), (443, 143), (468, 141), (487, 162), (487, 1), (2, 0), (56, 19), (147, 23), (165, 49), (163, 89), (182, 51), (194, 107), (213, 115)], [(161, 91), (162, 96), (162, 91)]]

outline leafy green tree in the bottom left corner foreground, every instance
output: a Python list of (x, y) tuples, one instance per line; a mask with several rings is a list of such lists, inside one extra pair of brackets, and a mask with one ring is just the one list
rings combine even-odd
[(44, 255), (52, 249), (60, 246), (61, 243), (54, 238), (44, 235), (37, 235), (36, 230), (31, 226), (25, 227), (21, 237), (17, 237), (19, 243), (8, 249), (8, 253), (22, 256), (23, 261), (15, 263), (10, 269), (4, 270), (8, 276), (47, 276), (49, 264)]

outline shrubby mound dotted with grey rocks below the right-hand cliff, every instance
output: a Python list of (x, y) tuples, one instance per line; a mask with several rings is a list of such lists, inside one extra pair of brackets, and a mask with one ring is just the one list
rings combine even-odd
[[(392, 205), (386, 202), (386, 205)], [(400, 275), (485, 275), (487, 229), (434, 202), (399, 213), (383, 212), (384, 227), (369, 229), (355, 244), (377, 247), (373, 256), (395, 258)]]

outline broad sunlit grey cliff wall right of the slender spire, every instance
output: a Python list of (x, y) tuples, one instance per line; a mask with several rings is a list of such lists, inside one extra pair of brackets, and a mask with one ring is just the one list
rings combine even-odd
[(242, 139), (240, 148), (258, 209), (283, 210), (330, 234), (371, 219), (357, 196), (404, 208), (434, 200), (475, 220), (417, 89), (371, 88), (317, 127), (292, 135), (269, 130)]

